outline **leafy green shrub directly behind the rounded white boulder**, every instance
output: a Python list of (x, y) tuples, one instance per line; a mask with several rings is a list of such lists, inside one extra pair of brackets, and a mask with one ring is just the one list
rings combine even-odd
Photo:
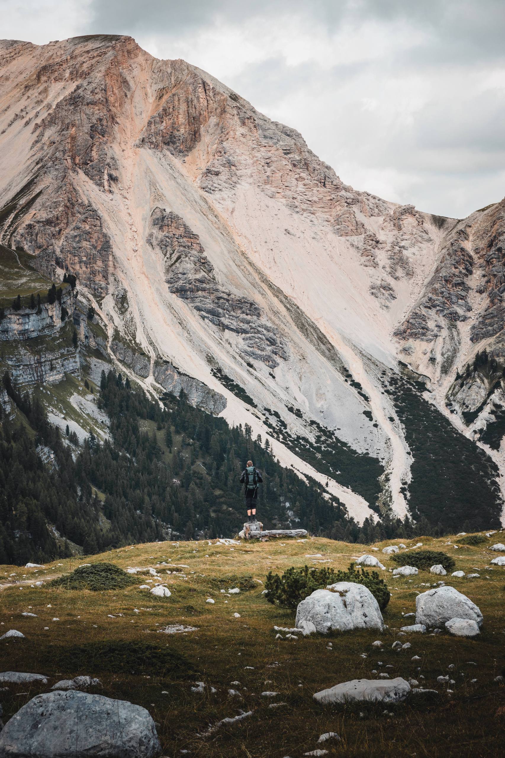
[(314, 590), (325, 589), (328, 584), (335, 584), (337, 581), (353, 581), (356, 584), (363, 584), (375, 597), (381, 610), (384, 610), (389, 603), (391, 594), (378, 572), (367, 572), (361, 566), (356, 569), (353, 563), (350, 564), (347, 571), (339, 570), (336, 572), (334, 568), (309, 568), (308, 566), (295, 568), (291, 566), (282, 576), (268, 572), (265, 581), (265, 590), (267, 590), (265, 597), (269, 603), (296, 608), (298, 603), (309, 597)]

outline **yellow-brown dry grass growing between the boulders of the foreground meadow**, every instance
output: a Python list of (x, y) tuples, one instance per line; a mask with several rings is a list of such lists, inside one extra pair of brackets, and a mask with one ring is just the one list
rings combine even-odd
[[(498, 539), (499, 537), (499, 539)], [(396, 540), (400, 541), (400, 540)], [(412, 545), (416, 540), (404, 540)], [(236, 586), (240, 577), (252, 576), (260, 581), (271, 568), (283, 571), (290, 565), (309, 565), (314, 560), (306, 554), (322, 553), (322, 559), (334, 568), (347, 568), (352, 556), (359, 555), (362, 546), (336, 543), (331, 540), (310, 539), (306, 542), (241, 544), (224, 546), (205, 542), (151, 543), (121, 548), (87, 559), (71, 559), (47, 565), (45, 569), (0, 567), (0, 581), (5, 574), (16, 572), (20, 582), (5, 587), (0, 593), (1, 631), (16, 628), (22, 631), (25, 641), (0, 643), (0, 670), (14, 669), (45, 673), (51, 677), (48, 687), (14, 687), (0, 693), (4, 706), (4, 720), (9, 718), (27, 700), (39, 691), (47, 690), (58, 677), (89, 674), (101, 679), (102, 694), (119, 697), (145, 706), (155, 722), (164, 747), (164, 754), (176, 756), (189, 750), (191, 755), (205, 756), (301, 756), (316, 747), (339, 756), (385, 756), (394, 751), (400, 756), (497, 756), (503, 748), (505, 727), (505, 687), (495, 683), (494, 677), (503, 672), (503, 637), (505, 607), (503, 585), (505, 568), (484, 570), (496, 553), (488, 545), (503, 541), (503, 534), (494, 535), (487, 544), (479, 547), (445, 545), (448, 538), (431, 540), (422, 538), (424, 547), (445, 550), (456, 559), (456, 569), (472, 573), (478, 567), (478, 579), (446, 577), (447, 583), (467, 594), (484, 614), (485, 625), (475, 640), (409, 634), (397, 637), (403, 621), (402, 612), (415, 609), (416, 590), (422, 582), (433, 583), (438, 577), (419, 572), (414, 581), (394, 578), (387, 574), (391, 589), (391, 602), (384, 612), (389, 629), (381, 634), (359, 631), (334, 634), (331, 637), (300, 638), (298, 641), (275, 641), (274, 625), (291, 626), (291, 612), (267, 603), (262, 596), (262, 584), (257, 589), (238, 595), (221, 594), (218, 587), (222, 578), (230, 578), (229, 587)], [(376, 547), (384, 547), (380, 543)], [(370, 548), (366, 548), (370, 552)], [(375, 553), (387, 568), (394, 568), (388, 556)], [(36, 578), (49, 579), (69, 572), (82, 562), (114, 562), (128, 566), (148, 567), (165, 561), (183, 564), (186, 578), (177, 573), (165, 575), (168, 567), (158, 567), (165, 583), (171, 589), (169, 598), (157, 598), (137, 586), (125, 590), (89, 592), (61, 590), (50, 587), (30, 587)], [(385, 572), (384, 572), (385, 573)], [(35, 576), (36, 574), (36, 576)], [(23, 578), (23, 575), (26, 575)], [(487, 578), (488, 577), (488, 578)], [(143, 584), (147, 575), (139, 578)], [(219, 583), (217, 580), (220, 580)], [(205, 603), (212, 597), (215, 604)], [(140, 612), (135, 612), (135, 610)], [(23, 611), (36, 613), (27, 618)], [(240, 618), (235, 618), (238, 612)], [(119, 615), (122, 614), (122, 615)], [(114, 616), (114, 618), (111, 618)], [(59, 621), (53, 622), (57, 617)], [(168, 624), (185, 624), (197, 627), (187, 634), (166, 635), (160, 630)], [(45, 629), (49, 627), (49, 629)], [(391, 650), (400, 638), (412, 647), (402, 653)], [(333, 650), (327, 649), (331, 639)], [(384, 642), (384, 652), (371, 647), (375, 639)], [(114, 650), (115, 672), (110, 666), (96, 664), (96, 655), (86, 659), (71, 655), (73, 646), (85, 650), (102, 650), (102, 646), (118, 643)], [(121, 645), (119, 645), (121, 643)], [(143, 668), (138, 661), (133, 666), (128, 656), (127, 643), (152, 644), (158, 649), (143, 657)], [(126, 645), (125, 645), (126, 644)], [(160, 653), (161, 650), (161, 653)], [(158, 655), (163, 651), (179, 661), (171, 672), (170, 666), (162, 672)], [(70, 653), (69, 653), (70, 651)], [(362, 653), (367, 657), (363, 658)], [(124, 669), (118, 672), (118, 655), (124, 654)], [(419, 655), (421, 660), (412, 662)], [(133, 656), (133, 653), (132, 653)], [(138, 657), (138, 656), (137, 656)], [(78, 662), (80, 668), (74, 660)], [(86, 660), (93, 661), (93, 669), (86, 668)], [(132, 658), (133, 660), (133, 658)], [(184, 673), (187, 662), (188, 670)], [(378, 661), (382, 666), (378, 666)], [(475, 666), (469, 662), (475, 662)], [(393, 668), (387, 669), (391, 665)], [(454, 669), (448, 669), (453, 665)], [(252, 669), (246, 669), (252, 666)], [(417, 670), (420, 666), (420, 671)], [(195, 674), (191, 673), (191, 667)], [(121, 668), (121, 666), (120, 666)], [(177, 670), (176, 670), (177, 669)], [(359, 706), (322, 708), (312, 700), (315, 691), (353, 678), (375, 678), (372, 669), (389, 672), (391, 677), (419, 678), (426, 688), (437, 689), (441, 695), (428, 702), (407, 702), (399, 706)], [(438, 684), (439, 675), (449, 674), (455, 681), (447, 694), (447, 685)], [(477, 681), (472, 682), (475, 678)], [(194, 681), (205, 681), (203, 694), (190, 690)], [(240, 685), (232, 685), (239, 681)], [(212, 694), (210, 687), (216, 692)], [(228, 689), (239, 690), (243, 696), (230, 697)], [(286, 703), (269, 709), (271, 700), (260, 697), (262, 691), (279, 693), (273, 701)], [(167, 694), (162, 694), (165, 691)], [(226, 716), (235, 716), (239, 710), (253, 710), (253, 715), (235, 725), (219, 728), (212, 736), (199, 737), (203, 731)], [(393, 713), (393, 716), (384, 715)], [(360, 713), (363, 715), (360, 716)], [(339, 743), (316, 745), (318, 736), (325, 731), (337, 731)]]

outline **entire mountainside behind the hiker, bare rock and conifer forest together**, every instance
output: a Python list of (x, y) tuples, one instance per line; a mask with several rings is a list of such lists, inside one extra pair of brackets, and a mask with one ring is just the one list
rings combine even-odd
[(128, 36), (0, 52), (0, 562), (231, 536), (252, 454), (269, 525), (505, 523), (505, 201), (353, 189)]

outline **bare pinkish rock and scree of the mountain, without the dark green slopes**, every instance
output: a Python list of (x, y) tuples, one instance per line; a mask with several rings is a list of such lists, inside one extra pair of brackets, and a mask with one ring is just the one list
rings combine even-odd
[[(328, 477), (359, 519), (376, 503), (337, 469), (317, 470), (312, 453), (309, 464), (296, 440), (315, 444), (322, 424), (356, 462), (379, 459), (380, 508), (405, 515), (412, 456), (381, 387), (399, 359), (428, 377), (438, 410), (478, 442), (482, 416), (467, 427), (463, 400), (451, 411), (447, 393), (474, 346), (505, 358), (493, 294), (503, 249), (487, 261), (503, 202), (458, 221), (358, 192), (296, 130), (130, 37), (0, 44), (9, 52), (1, 241), (52, 279), (77, 275), (109, 354), (147, 390), (159, 392), (174, 371), (193, 377), (224, 398), (228, 422), (268, 432), (284, 465)], [(474, 266), (485, 274), (480, 295)], [(474, 330), (472, 342), (477, 309), (471, 321), (485, 333)], [(490, 402), (505, 406), (501, 380)], [(503, 471), (500, 450), (485, 449)]]

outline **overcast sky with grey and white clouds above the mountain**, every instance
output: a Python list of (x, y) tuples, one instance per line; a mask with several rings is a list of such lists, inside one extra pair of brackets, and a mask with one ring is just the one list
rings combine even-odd
[(505, 195), (503, 0), (0, 0), (0, 18), (184, 58), (357, 189), (457, 218)]

